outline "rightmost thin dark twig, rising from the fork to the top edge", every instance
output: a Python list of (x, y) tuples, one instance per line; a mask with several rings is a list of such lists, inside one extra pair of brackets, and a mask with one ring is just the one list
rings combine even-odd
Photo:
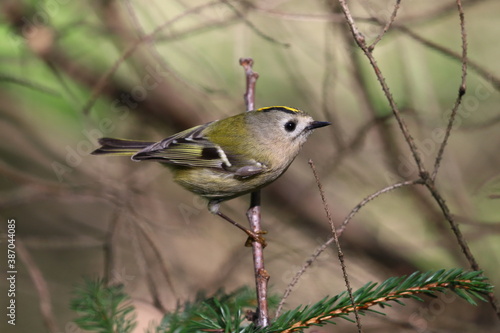
[(467, 32), (465, 31), (465, 15), (464, 10), (462, 8), (462, 1), (457, 1), (458, 7), (458, 15), (460, 17), (460, 35), (462, 37), (462, 81), (460, 83), (460, 87), (458, 88), (458, 96), (455, 100), (455, 105), (453, 105), (453, 109), (451, 110), (451, 115), (448, 120), (448, 126), (446, 127), (446, 134), (444, 136), (443, 142), (439, 147), (438, 154), (436, 156), (436, 161), (434, 162), (434, 171), (432, 172), (431, 179), (434, 181), (437, 176), (437, 172), (439, 170), (439, 166), (441, 164), (441, 159), (443, 158), (444, 149), (446, 148), (446, 144), (448, 143), (448, 139), (451, 135), (451, 130), (453, 129), (453, 123), (455, 122), (455, 117), (457, 115), (458, 107), (462, 103), (462, 97), (465, 95), (467, 91)]

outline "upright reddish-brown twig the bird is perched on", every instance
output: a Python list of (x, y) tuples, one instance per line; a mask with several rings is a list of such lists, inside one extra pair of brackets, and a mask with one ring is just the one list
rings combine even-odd
[[(240, 59), (240, 65), (243, 66), (246, 77), (246, 90), (244, 95), (245, 104), (247, 111), (251, 111), (255, 109), (255, 83), (259, 78), (259, 74), (255, 73), (252, 69), (252, 58)], [(247, 218), (250, 223), (250, 229), (256, 234), (261, 234), (260, 190), (252, 192), (251, 194), (250, 208), (247, 211)], [(257, 326), (267, 327), (269, 326), (267, 283), (270, 276), (264, 267), (264, 245), (259, 242), (252, 242), (252, 253), (255, 271), (255, 286), (257, 289), (257, 318), (255, 321)]]

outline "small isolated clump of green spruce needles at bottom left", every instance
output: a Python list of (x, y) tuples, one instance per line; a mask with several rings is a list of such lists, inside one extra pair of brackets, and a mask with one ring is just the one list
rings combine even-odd
[(86, 280), (75, 292), (71, 309), (80, 317), (75, 323), (84, 330), (96, 332), (132, 332), (134, 307), (123, 285), (106, 286), (103, 280)]

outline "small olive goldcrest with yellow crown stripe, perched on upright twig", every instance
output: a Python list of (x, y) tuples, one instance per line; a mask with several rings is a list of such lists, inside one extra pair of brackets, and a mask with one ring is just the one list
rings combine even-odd
[(306, 112), (271, 106), (212, 121), (159, 142), (101, 138), (92, 154), (131, 155), (133, 161), (164, 163), (174, 181), (208, 199), (208, 209), (245, 231), (263, 238), (220, 212), (220, 203), (260, 189), (281, 176), (316, 128)]

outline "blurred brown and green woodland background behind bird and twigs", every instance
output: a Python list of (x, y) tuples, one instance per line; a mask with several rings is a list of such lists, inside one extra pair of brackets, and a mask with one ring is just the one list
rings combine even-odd
[[(373, 41), (395, 1), (349, 3)], [(463, 3), (473, 63), (437, 186), (479, 265), (498, 285), (500, 3)], [(336, 1), (24, 0), (3, 1), (0, 11), (1, 267), (8, 219), (16, 220), (20, 249), (17, 325), (4, 318), (2, 332), (78, 332), (69, 301), (84, 276), (125, 284), (144, 325), (199, 290), (253, 285), (244, 235), (174, 184), (168, 170), (89, 155), (101, 136), (160, 140), (244, 111), (241, 57), (252, 57), (260, 74), (258, 107), (294, 106), (333, 122), (315, 132), (288, 172), (263, 191), (274, 292), (281, 294), (330, 236), (308, 159), (319, 170), (337, 225), (366, 196), (418, 176)], [(460, 43), (455, 1), (403, 1), (374, 50), (430, 170), (460, 84), (461, 63), (453, 55), (460, 54)], [(244, 222), (247, 206), (243, 197), (222, 209)], [(469, 268), (421, 186), (364, 206), (341, 244), (354, 287), (415, 270)], [(0, 277), (4, 300), (4, 269)], [(42, 281), (42, 297), (33, 279)], [(287, 306), (342, 290), (332, 247)], [(498, 330), (487, 303), (473, 307), (451, 294), (407, 303), (384, 310), (386, 317), (362, 318), (365, 331)], [(41, 305), (52, 313), (48, 324)], [(339, 321), (315, 332), (333, 329), (355, 330)]]

